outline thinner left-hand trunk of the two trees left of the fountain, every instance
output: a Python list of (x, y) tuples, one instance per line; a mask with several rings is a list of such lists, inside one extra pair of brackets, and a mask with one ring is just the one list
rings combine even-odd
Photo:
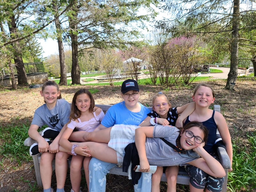
[[(58, 10), (57, 1), (52, 1), (53, 9)], [(55, 19), (55, 27), (56, 27), (56, 34), (57, 34), (57, 41), (59, 47), (59, 58), (60, 58), (60, 83), (59, 85), (67, 85), (67, 70), (65, 64), (65, 54), (64, 54), (64, 47), (62, 41), (62, 31), (60, 27), (60, 19), (54, 15)]]

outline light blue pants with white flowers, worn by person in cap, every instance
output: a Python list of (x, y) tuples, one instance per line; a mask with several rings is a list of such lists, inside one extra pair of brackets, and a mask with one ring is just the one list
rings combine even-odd
[[(114, 166), (116, 164), (100, 161), (92, 157), (89, 164), (90, 192), (106, 191), (106, 175)], [(142, 173), (138, 184), (134, 186), (134, 192), (151, 191), (151, 175), (151, 173)]]

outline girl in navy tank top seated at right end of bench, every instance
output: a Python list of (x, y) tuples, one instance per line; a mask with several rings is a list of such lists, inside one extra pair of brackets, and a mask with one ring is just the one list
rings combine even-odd
[[(205, 144), (204, 148), (209, 154), (216, 158), (218, 157), (214, 154), (213, 145), (216, 138), (216, 131), (218, 129), (225, 144), (232, 167), (233, 151), (226, 120), (222, 114), (209, 108), (215, 100), (215, 94), (212, 87), (204, 83), (197, 84), (192, 99), (196, 103), (196, 109), (186, 118), (186, 120), (184, 120), (184, 124), (187, 124), (190, 121), (199, 121), (207, 127), (209, 130), (208, 142)], [(205, 187), (205, 191), (207, 192), (220, 192), (222, 190), (223, 178), (212, 177), (192, 165), (185, 166), (185, 169), (190, 175), (189, 186), (191, 192), (203, 192)], [(232, 168), (229, 171), (232, 171)]]

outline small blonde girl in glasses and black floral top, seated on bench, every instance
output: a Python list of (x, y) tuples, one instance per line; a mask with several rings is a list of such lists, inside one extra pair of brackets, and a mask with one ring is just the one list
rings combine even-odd
[[(153, 97), (152, 108), (153, 110), (148, 113), (148, 117), (146, 117), (139, 126), (161, 124), (182, 128), (182, 121), (195, 110), (195, 103), (192, 102), (181, 107), (172, 108), (168, 95), (163, 92), (158, 92)], [(179, 117), (181, 113), (182, 116)], [(157, 167), (156, 172), (152, 175), (151, 191), (160, 192), (160, 181), (163, 169), (165, 169), (167, 178), (167, 191), (176, 192), (176, 181), (179, 172), (178, 166)]]

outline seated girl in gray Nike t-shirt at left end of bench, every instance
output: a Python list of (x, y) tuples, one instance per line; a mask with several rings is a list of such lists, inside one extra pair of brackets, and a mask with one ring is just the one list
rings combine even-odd
[[(31, 145), (29, 153), (31, 156), (41, 154), (40, 175), (43, 183), (44, 192), (51, 192), (52, 178), (52, 160), (56, 158), (55, 172), (59, 191), (64, 192), (64, 184), (67, 175), (68, 162), (70, 156), (67, 153), (59, 152), (59, 140), (62, 134), (62, 127), (68, 122), (70, 115), (70, 104), (68, 101), (61, 99), (60, 89), (55, 81), (47, 81), (43, 84), (40, 91), (44, 102), (42, 106), (36, 109), (32, 123), (28, 130), (28, 135), (37, 143)], [(48, 131), (56, 132), (57, 137), (44, 139), (38, 132), (38, 128), (47, 125)], [(47, 138), (47, 137), (46, 137)], [(49, 138), (49, 137), (48, 137)], [(57, 163), (58, 162), (58, 163)]]

